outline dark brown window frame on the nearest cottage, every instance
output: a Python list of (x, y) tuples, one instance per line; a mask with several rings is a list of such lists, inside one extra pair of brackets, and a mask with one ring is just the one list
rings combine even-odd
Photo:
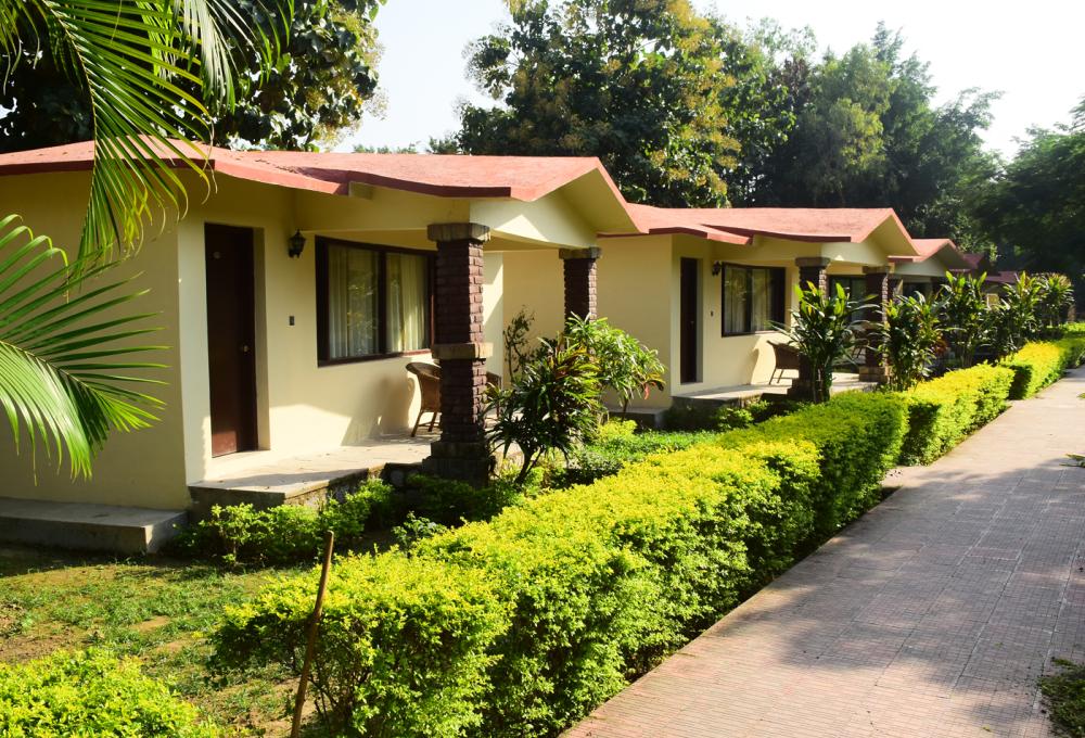
[[(404, 249), (400, 246), (388, 246), (380, 243), (368, 243), (361, 241), (345, 241), (343, 239), (318, 236), (316, 244), (316, 279), (317, 279), (317, 366), (335, 367), (343, 364), (360, 364), (362, 361), (379, 361), (381, 359), (392, 359), (403, 356), (420, 356), (433, 351), (435, 341), (435, 327), (433, 320), (434, 311), (434, 287), (436, 270), (436, 252), (422, 249)], [(328, 334), (328, 247), (345, 246), (359, 251), (374, 252), (376, 259), (376, 345), (378, 353), (366, 354), (365, 356), (344, 356), (342, 358), (329, 358), (331, 354), (331, 336)], [(409, 256), (423, 256), (426, 262), (425, 279), (425, 336), (429, 344), (425, 348), (414, 348), (405, 352), (390, 352), (388, 345), (388, 254), (407, 254)]]

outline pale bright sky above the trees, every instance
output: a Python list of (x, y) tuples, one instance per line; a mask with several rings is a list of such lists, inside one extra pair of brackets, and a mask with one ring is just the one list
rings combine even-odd
[[(728, 21), (770, 17), (786, 28), (809, 26), (821, 49), (843, 52), (868, 40), (879, 21), (901, 29), (906, 52), (930, 62), (937, 102), (978, 87), (1003, 93), (992, 107), (987, 145), (1011, 156), (1031, 126), (1065, 123), (1085, 97), (1085, 2), (1031, 0), (693, 0)], [(467, 77), (463, 50), (508, 11), (501, 0), (387, 0), (376, 17), (384, 47), (379, 66), (384, 110), (367, 114), (337, 148), (423, 148), (457, 128), (463, 100), (486, 103)]]

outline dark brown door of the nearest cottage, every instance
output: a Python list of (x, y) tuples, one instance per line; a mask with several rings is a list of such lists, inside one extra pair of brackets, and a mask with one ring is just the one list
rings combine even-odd
[(256, 444), (253, 231), (206, 226), (212, 456)]

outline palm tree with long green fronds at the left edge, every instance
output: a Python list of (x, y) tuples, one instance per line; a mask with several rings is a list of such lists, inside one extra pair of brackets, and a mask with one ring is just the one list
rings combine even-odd
[[(285, 33), (291, 0), (268, 1)], [(111, 431), (155, 419), (158, 400), (133, 387), (155, 381), (142, 370), (161, 365), (137, 359), (161, 347), (131, 343), (156, 329), (115, 309), (145, 290), (105, 278), (155, 217), (183, 214), (178, 168), (210, 186), (197, 142), (212, 140), (207, 103), (233, 103), (230, 46), (268, 60), (278, 42), (230, 0), (0, 0), (0, 84), (35, 44), (86, 91), (94, 139), (74, 259), (17, 215), (0, 216), (0, 407), (16, 444), (25, 432), (31, 450), (66, 453), (73, 474), (89, 474)]]

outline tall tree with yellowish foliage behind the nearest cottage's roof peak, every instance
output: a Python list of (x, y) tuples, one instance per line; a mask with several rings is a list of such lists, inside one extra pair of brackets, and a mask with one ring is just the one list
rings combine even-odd
[(435, 148), (474, 154), (596, 155), (634, 202), (720, 205), (737, 164), (723, 43), (688, 0), (524, 0), (470, 48), (480, 89)]

